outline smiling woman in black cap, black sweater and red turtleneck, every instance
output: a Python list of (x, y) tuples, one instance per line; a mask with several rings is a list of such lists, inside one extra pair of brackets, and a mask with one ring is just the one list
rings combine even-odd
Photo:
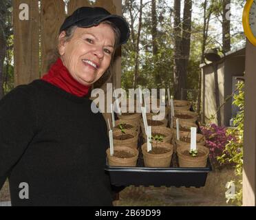
[(87, 94), (128, 38), (123, 17), (78, 8), (61, 25), (49, 71), (0, 101), (0, 189), (8, 177), (12, 206), (111, 206), (107, 126)]

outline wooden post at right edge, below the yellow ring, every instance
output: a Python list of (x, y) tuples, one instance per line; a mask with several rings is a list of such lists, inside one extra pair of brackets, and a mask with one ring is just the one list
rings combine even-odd
[(244, 104), (243, 206), (255, 206), (256, 190), (256, 47), (246, 43)]

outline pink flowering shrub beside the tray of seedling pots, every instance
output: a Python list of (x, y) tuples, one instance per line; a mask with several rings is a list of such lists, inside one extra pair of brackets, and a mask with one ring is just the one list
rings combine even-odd
[(216, 165), (220, 165), (219, 162), (217, 162), (217, 157), (223, 154), (226, 144), (228, 144), (228, 141), (233, 140), (234, 137), (232, 135), (228, 135), (226, 132), (227, 128), (225, 126), (209, 124), (207, 126), (201, 126), (200, 129), (206, 138), (206, 146), (210, 150), (209, 157), (211, 162)]

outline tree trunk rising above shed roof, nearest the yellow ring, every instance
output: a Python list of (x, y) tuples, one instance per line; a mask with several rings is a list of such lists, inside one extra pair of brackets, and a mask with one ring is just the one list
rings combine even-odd
[(231, 50), (230, 5), (231, 0), (222, 0), (222, 50), (224, 53)]

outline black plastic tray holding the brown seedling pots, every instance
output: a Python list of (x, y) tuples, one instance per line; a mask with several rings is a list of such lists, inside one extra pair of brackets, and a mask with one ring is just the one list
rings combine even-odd
[(171, 167), (148, 168), (143, 166), (140, 153), (136, 167), (108, 166), (106, 164), (105, 170), (109, 173), (111, 184), (114, 186), (201, 187), (205, 185), (206, 177), (211, 171), (211, 163), (208, 159), (205, 168), (180, 168), (174, 153)]

